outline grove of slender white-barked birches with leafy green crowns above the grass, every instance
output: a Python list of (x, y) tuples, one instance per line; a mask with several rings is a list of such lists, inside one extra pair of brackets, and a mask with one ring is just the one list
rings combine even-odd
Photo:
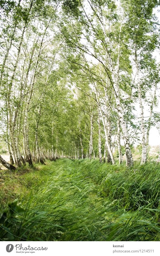
[(9, 10), (2, 4), (5, 168), (60, 157), (133, 168), (138, 148), (140, 163), (149, 161), (160, 120), (159, 42), (157, 3), (144, 2), (14, 0)]

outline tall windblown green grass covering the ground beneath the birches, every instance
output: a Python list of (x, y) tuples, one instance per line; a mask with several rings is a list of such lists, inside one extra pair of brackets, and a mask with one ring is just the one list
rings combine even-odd
[[(160, 165), (59, 159), (0, 172), (2, 241), (159, 241)], [(15, 200), (16, 199), (16, 200)]]

